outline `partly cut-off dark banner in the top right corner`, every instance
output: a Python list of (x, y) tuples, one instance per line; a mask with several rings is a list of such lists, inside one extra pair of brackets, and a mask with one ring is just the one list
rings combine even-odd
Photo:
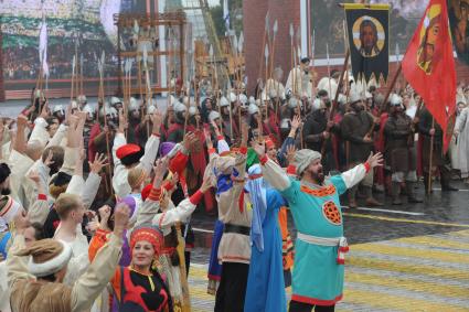
[(448, 17), (458, 58), (469, 65), (469, 0), (448, 0)]

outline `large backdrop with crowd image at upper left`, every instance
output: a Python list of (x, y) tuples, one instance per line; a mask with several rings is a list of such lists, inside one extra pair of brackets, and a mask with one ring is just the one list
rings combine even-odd
[[(40, 68), (39, 31), (47, 23), (50, 79), (67, 79), (72, 74), (75, 42), (84, 58), (84, 76), (97, 77), (97, 57), (106, 52), (106, 75), (114, 76), (117, 29), (113, 15), (140, 12), (143, 1), (132, 0), (8, 0), (0, 2), (6, 80), (35, 79)], [(137, 3), (137, 4), (136, 4)]]

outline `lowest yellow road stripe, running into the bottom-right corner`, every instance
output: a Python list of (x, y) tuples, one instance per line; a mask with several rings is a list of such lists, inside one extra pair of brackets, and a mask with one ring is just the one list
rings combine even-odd
[(391, 295), (379, 291), (364, 291), (345, 288), (344, 302), (365, 304), (377, 309), (391, 309), (394, 311), (468, 311), (460, 306), (443, 304), (426, 300), (412, 299), (408, 297)]

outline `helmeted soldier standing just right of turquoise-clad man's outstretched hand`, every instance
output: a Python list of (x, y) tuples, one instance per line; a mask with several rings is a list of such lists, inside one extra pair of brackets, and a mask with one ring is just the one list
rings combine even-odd
[(402, 205), (401, 184), (405, 182), (408, 203), (422, 203), (415, 196), (417, 182), (416, 155), (414, 149), (414, 125), (403, 109), (402, 98), (394, 94), (391, 98), (391, 115), (384, 126), (385, 159), (391, 168), (393, 205)]

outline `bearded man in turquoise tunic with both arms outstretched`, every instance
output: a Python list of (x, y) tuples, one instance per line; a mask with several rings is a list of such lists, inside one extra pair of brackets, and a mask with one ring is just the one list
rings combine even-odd
[(348, 251), (339, 196), (381, 165), (382, 155), (371, 154), (364, 163), (324, 180), (321, 154), (303, 149), (295, 154), (298, 181), (268, 159), (264, 143), (254, 142), (253, 149), (264, 179), (288, 201), (298, 229), (289, 311), (311, 311), (315, 306), (320, 309), (316, 311), (334, 311), (342, 299)]

